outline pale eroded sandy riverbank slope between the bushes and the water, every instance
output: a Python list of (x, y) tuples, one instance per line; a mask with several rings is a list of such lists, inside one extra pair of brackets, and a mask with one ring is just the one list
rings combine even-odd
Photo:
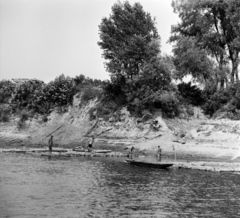
[[(74, 100), (73, 106), (62, 114), (52, 112), (47, 122), (34, 117), (17, 128), (17, 118), (0, 124), (0, 148), (45, 148), (50, 135), (54, 147), (73, 149), (86, 147), (95, 136), (95, 149), (110, 149), (126, 154), (134, 146), (138, 156), (155, 156), (157, 147), (163, 156), (181, 162), (240, 162), (240, 122), (207, 119), (198, 108), (187, 119), (163, 119), (160, 115), (148, 119), (131, 117), (126, 109), (109, 120), (91, 120), (89, 110), (96, 102), (85, 106)], [(119, 117), (121, 119), (119, 119)]]

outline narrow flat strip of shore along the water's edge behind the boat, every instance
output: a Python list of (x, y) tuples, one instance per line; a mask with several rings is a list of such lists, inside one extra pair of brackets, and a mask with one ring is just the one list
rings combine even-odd
[[(77, 157), (92, 157), (92, 158), (128, 158), (127, 153), (111, 151), (109, 153), (95, 153), (93, 152), (76, 152), (69, 148), (54, 148), (52, 152), (48, 151), (48, 147), (44, 148), (0, 148), (0, 154), (16, 153), (31, 156), (41, 156), (48, 158), (77, 158)], [(172, 169), (186, 169), (186, 170), (203, 170), (212, 172), (225, 172), (225, 173), (240, 173), (240, 161), (235, 159), (231, 160), (225, 156), (222, 158), (213, 158), (199, 155), (185, 155), (181, 154), (174, 160), (174, 154), (164, 154), (162, 162), (173, 163)], [(143, 161), (155, 162), (156, 157), (152, 154), (138, 154), (134, 155), (133, 159)]]

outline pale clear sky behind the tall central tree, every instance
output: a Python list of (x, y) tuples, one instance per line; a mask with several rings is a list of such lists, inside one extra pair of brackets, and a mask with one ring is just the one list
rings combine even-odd
[[(0, 80), (13, 78), (54, 80), (64, 74), (109, 79), (102, 50), (97, 45), (99, 24), (109, 17), (117, 0), (0, 0)], [(139, 2), (156, 18), (161, 51), (171, 25), (177, 24), (172, 0)]]

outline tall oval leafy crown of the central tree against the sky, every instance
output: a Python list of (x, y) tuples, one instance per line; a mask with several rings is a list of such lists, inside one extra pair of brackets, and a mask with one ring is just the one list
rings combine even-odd
[(133, 79), (144, 63), (160, 53), (160, 37), (151, 15), (139, 3), (118, 2), (109, 18), (99, 25), (100, 41), (106, 68), (112, 80)]

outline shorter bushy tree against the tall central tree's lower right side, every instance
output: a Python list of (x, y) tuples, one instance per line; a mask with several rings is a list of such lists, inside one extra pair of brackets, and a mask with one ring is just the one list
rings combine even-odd
[(138, 77), (127, 80), (125, 93), (130, 109), (138, 114), (144, 109), (161, 108), (160, 96), (171, 89), (171, 66), (164, 58), (152, 59)]

